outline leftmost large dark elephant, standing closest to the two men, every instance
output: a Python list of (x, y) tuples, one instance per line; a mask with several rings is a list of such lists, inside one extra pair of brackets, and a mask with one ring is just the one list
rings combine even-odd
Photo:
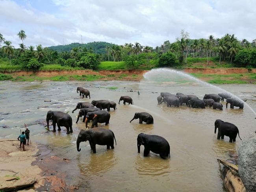
[(49, 120), (52, 120), (53, 132), (56, 132), (56, 123), (58, 131), (61, 131), (60, 127), (67, 128), (67, 134), (73, 133), (72, 118), (69, 114), (61, 111), (48, 111), (46, 115), (47, 129), (49, 130)]

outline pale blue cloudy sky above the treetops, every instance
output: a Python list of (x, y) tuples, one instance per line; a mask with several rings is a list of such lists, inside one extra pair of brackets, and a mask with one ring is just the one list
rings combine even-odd
[(181, 30), (190, 39), (234, 34), (256, 39), (254, 0), (0, 0), (0, 33), (19, 48), (72, 42), (139, 42), (161, 46), (175, 42)]

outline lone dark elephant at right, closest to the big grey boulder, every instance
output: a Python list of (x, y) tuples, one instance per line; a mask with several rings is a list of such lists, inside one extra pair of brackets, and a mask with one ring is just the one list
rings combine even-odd
[(215, 134), (216, 134), (216, 130), (218, 128), (217, 139), (220, 139), (220, 138), (224, 139), (224, 135), (226, 135), (229, 137), (229, 142), (231, 142), (231, 143), (232, 143), (232, 141), (236, 142), (237, 133), (238, 133), (238, 137), (240, 138), (239, 130), (238, 130), (237, 126), (235, 126), (232, 123), (224, 122), (220, 119), (216, 119), (214, 126), (215, 126), (215, 129), (214, 129)]

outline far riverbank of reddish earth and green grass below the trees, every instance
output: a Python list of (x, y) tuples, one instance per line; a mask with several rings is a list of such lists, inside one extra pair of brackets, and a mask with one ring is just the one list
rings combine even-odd
[[(140, 81), (149, 70), (65, 70), (5, 72), (13, 81)], [(254, 84), (256, 69), (245, 68), (184, 68), (178, 70), (212, 84)]]

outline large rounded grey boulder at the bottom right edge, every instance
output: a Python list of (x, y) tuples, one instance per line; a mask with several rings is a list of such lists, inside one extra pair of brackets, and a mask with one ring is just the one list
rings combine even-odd
[(247, 192), (256, 191), (256, 133), (247, 135), (238, 151), (239, 175)]

